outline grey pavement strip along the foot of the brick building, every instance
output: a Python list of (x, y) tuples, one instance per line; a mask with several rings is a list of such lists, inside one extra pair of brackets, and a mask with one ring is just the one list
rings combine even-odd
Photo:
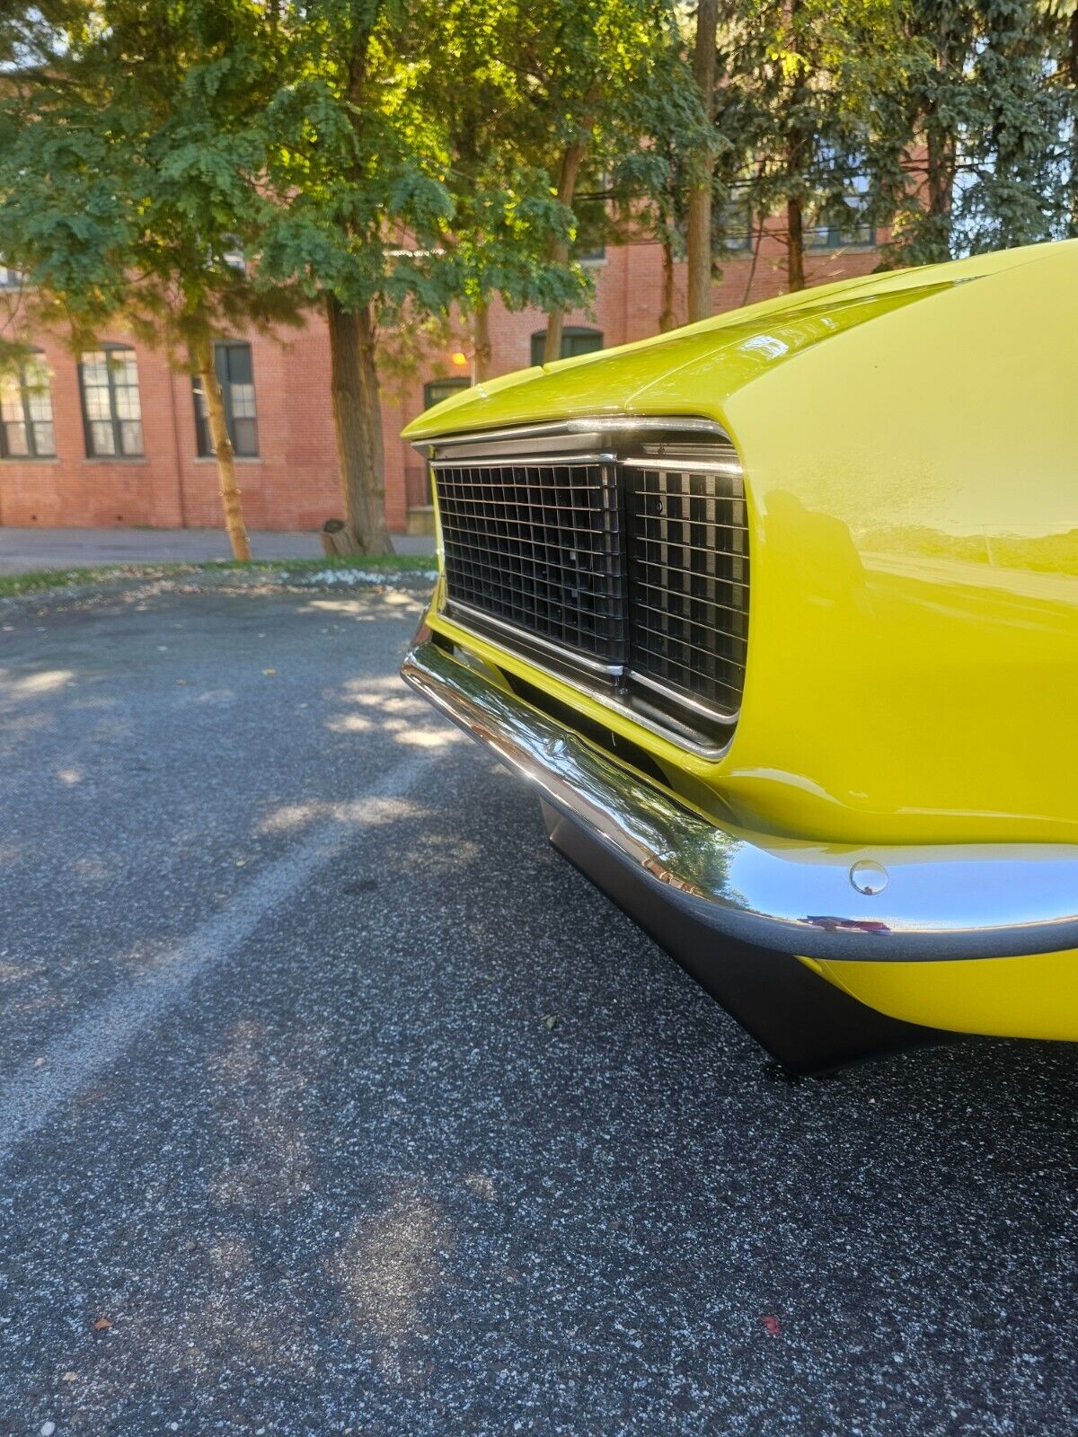
[[(252, 530), (256, 559), (318, 559), (318, 535)], [(394, 536), (397, 553), (434, 553), (434, 540)], [(229, 559), (221, 529), (6, 529), (0, 526), (0, 573), (80, 569), (96, 563), (200, 563)]]

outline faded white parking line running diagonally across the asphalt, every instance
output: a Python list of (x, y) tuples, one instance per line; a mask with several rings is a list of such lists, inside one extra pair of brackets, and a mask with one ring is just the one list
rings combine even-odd
[(404, 799), (434, 754), (405, 759), (368, 792), (322, 822), (302, 844), (260, 874), (227, 908), (171, 948), (134, 987), (92, 1007), (63, 1038), (49, 1043), (47, 1068), (30, 1068), (0, 1079), (0, 1168), (14, 1147), (37, 1132), (95, 1075), (152, 1026), (195, 979), (218, 967), (250, 937), (257, 924), (296, 894), (328, 862), (378, 823), (407, 813)]

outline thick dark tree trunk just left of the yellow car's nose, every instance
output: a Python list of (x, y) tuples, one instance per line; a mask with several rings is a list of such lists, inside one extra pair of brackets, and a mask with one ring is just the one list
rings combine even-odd
[(369, 306), (342, 309), (326, 297), (336, 458), (345, 500), (345, 546), (351, 553), (392, 553), (385, 527), (382, 410)]

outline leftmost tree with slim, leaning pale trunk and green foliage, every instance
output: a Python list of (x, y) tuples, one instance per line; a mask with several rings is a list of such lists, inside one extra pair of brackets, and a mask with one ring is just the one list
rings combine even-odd
[(295, 322), (237, 250), (263, 208), (256, 0), (91, 0), (36, 17), (0, 101), (0, 233), (27, 318), (86, 348), (122, 322), (200, 378), (237, 559), (250, 558), (214, 338)]

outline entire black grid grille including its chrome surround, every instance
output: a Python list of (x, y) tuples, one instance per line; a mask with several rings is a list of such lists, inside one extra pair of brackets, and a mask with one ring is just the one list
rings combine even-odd
[(446, 612), (713, 753), (747, 652), (736, 450), (710, 420), (601, 418), (434, 440)]

